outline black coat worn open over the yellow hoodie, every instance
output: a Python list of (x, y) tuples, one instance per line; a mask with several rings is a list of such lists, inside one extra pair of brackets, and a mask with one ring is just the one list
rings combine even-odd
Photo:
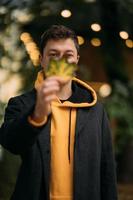
[[(43, 127), (28, 123), (35, 90), (10, 99), (0, 143), (22, 158), (11, 200), (48, 200), (50, 177), (50, 117)], [(101, 104), (77, 111), (74, 144), (74, 200), (116, 200), (111, 134)], [(65, 180), (64, 180), (65, 181)]]

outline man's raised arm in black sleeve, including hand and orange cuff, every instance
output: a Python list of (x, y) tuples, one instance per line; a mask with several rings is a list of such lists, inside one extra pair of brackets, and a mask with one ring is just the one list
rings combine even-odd
[(0, 129), (0, 143), (12, 153), (22, 154), (36, 141), (37, 135), (47, 122), (51, 113), (51, 102), (56, 94), (69, 82), (62, 77), (48, 77), (37, 88), (34, 106), (30, 97), (11, 98), (5, 113), (5, 120)]

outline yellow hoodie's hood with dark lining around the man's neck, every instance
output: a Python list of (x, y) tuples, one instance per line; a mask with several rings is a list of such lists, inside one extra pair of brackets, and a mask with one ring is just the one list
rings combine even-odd
[[(35, 88), (37, 89), (42, 81), (44, 81), (43, 71), (40, 71), (35, 81)], [(75, 77), (72, 78), (72, 96), (65, 101), (61, 101), (58, 97), (52, 101), (52, 105), (61, 107), (91, 107), (97, 102), (97, 95), (94, 89), (84, 81)]]

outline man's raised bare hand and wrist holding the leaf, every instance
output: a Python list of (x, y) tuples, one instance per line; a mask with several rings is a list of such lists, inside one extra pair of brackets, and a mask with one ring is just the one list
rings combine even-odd
[(57, 93), (69, 80), (68, 78), (51, 76), (43, 81), (37, 89), (37, 101), (32, 115), (35, 121), (41, 122), (44, 117), (51, 113), (51, 102), (57, 98)]

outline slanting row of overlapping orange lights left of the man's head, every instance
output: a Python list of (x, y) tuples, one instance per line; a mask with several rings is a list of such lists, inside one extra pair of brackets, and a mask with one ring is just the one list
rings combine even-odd
[(20, 39), (23, 41), (25, 48), (27, 50), (27, 53), (29, 54), (29, 57), (33, 62), (33, 65), (38, 66), (40, 52), (36, 43), (33, 41), (31, 35), (27, 32), (22, 33), (20, 35)]

